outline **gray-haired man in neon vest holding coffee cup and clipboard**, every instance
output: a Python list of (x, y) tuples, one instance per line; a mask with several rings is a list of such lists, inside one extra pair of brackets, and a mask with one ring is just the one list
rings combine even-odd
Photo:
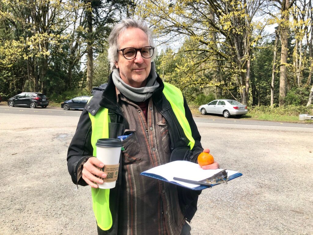
[[(197, 161), (203, 148), (186, 100), (156, 74), (156, 49), (144, 22), (125, 19), (115, 25), (108, 52), (113, 72), (107, 84), (93, 89), (69, 146), (72, 180), (91, 186), (98, 234), (190, 234), (186, 220), (196, 212), (200, 192), (140, 175), (173, 160)], [(91, 139), (107, 131), (109, 138), (129, 137), (122, 141), (116, 186), (104, 190), (96, 184), (103, 182), (96, 176), (106, 175), (96, 168), (103, 163), (93, 156)]]

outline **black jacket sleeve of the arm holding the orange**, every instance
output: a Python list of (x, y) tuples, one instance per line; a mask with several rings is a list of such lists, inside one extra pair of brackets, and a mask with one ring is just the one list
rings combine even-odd
[(185, 108), (185, 116), (187, 118), (187, 121), (191, 128), (192, 137), (195, 140), (195, 144), (192, 148), (192, 156), (190, 157), (192, 159), (192, 162), (197, 162), (198, 155), (203, 152), (203, 148), (201, 145), (201, 136), (198, 131), (197, 125), (195, 121), (193, 120), (192, 113), (187, 105), (186, 99), (184, 97), (184, 108)]

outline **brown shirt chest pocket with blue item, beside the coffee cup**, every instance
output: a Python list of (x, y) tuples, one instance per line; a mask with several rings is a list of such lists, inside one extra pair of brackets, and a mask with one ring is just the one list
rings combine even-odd
[(140, 163), (143, 159), (141, 147), (135, 130), (125, 131), (125, 135), (131, 134), (125, 140), (122, 140), (122, 145), (125, 150), (122, 151), (122, 165)]

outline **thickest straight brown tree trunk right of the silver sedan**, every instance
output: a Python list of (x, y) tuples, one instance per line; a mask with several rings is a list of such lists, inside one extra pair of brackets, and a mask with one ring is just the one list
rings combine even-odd
[[(280, 55), (280, 84), (279, 84), (279, 106), (285, 104), (287, 83), (287, 55), (288, 55), (288, 27), (289, 22), (289, 0), (284, 0), (281, 9), (283, 23), (280, 31), (281, 55)], [(288, 25), (288, 24), (287, 24)]]

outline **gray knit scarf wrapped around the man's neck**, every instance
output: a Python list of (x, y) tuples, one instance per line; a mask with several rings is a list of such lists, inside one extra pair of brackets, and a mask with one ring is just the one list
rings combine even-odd
[(159, 87), (156, 81), (156, 68), (154, 62), (151, 62), (151, 70), (147, 78), (145, 87), (135, 88), (127, 85), (120, 77), (119, 69), (114, 69), (112, 73), (113, 83), (116, 88), (128, 99), (135, 102), (143, 102), (152, 96), (153, 91)]

